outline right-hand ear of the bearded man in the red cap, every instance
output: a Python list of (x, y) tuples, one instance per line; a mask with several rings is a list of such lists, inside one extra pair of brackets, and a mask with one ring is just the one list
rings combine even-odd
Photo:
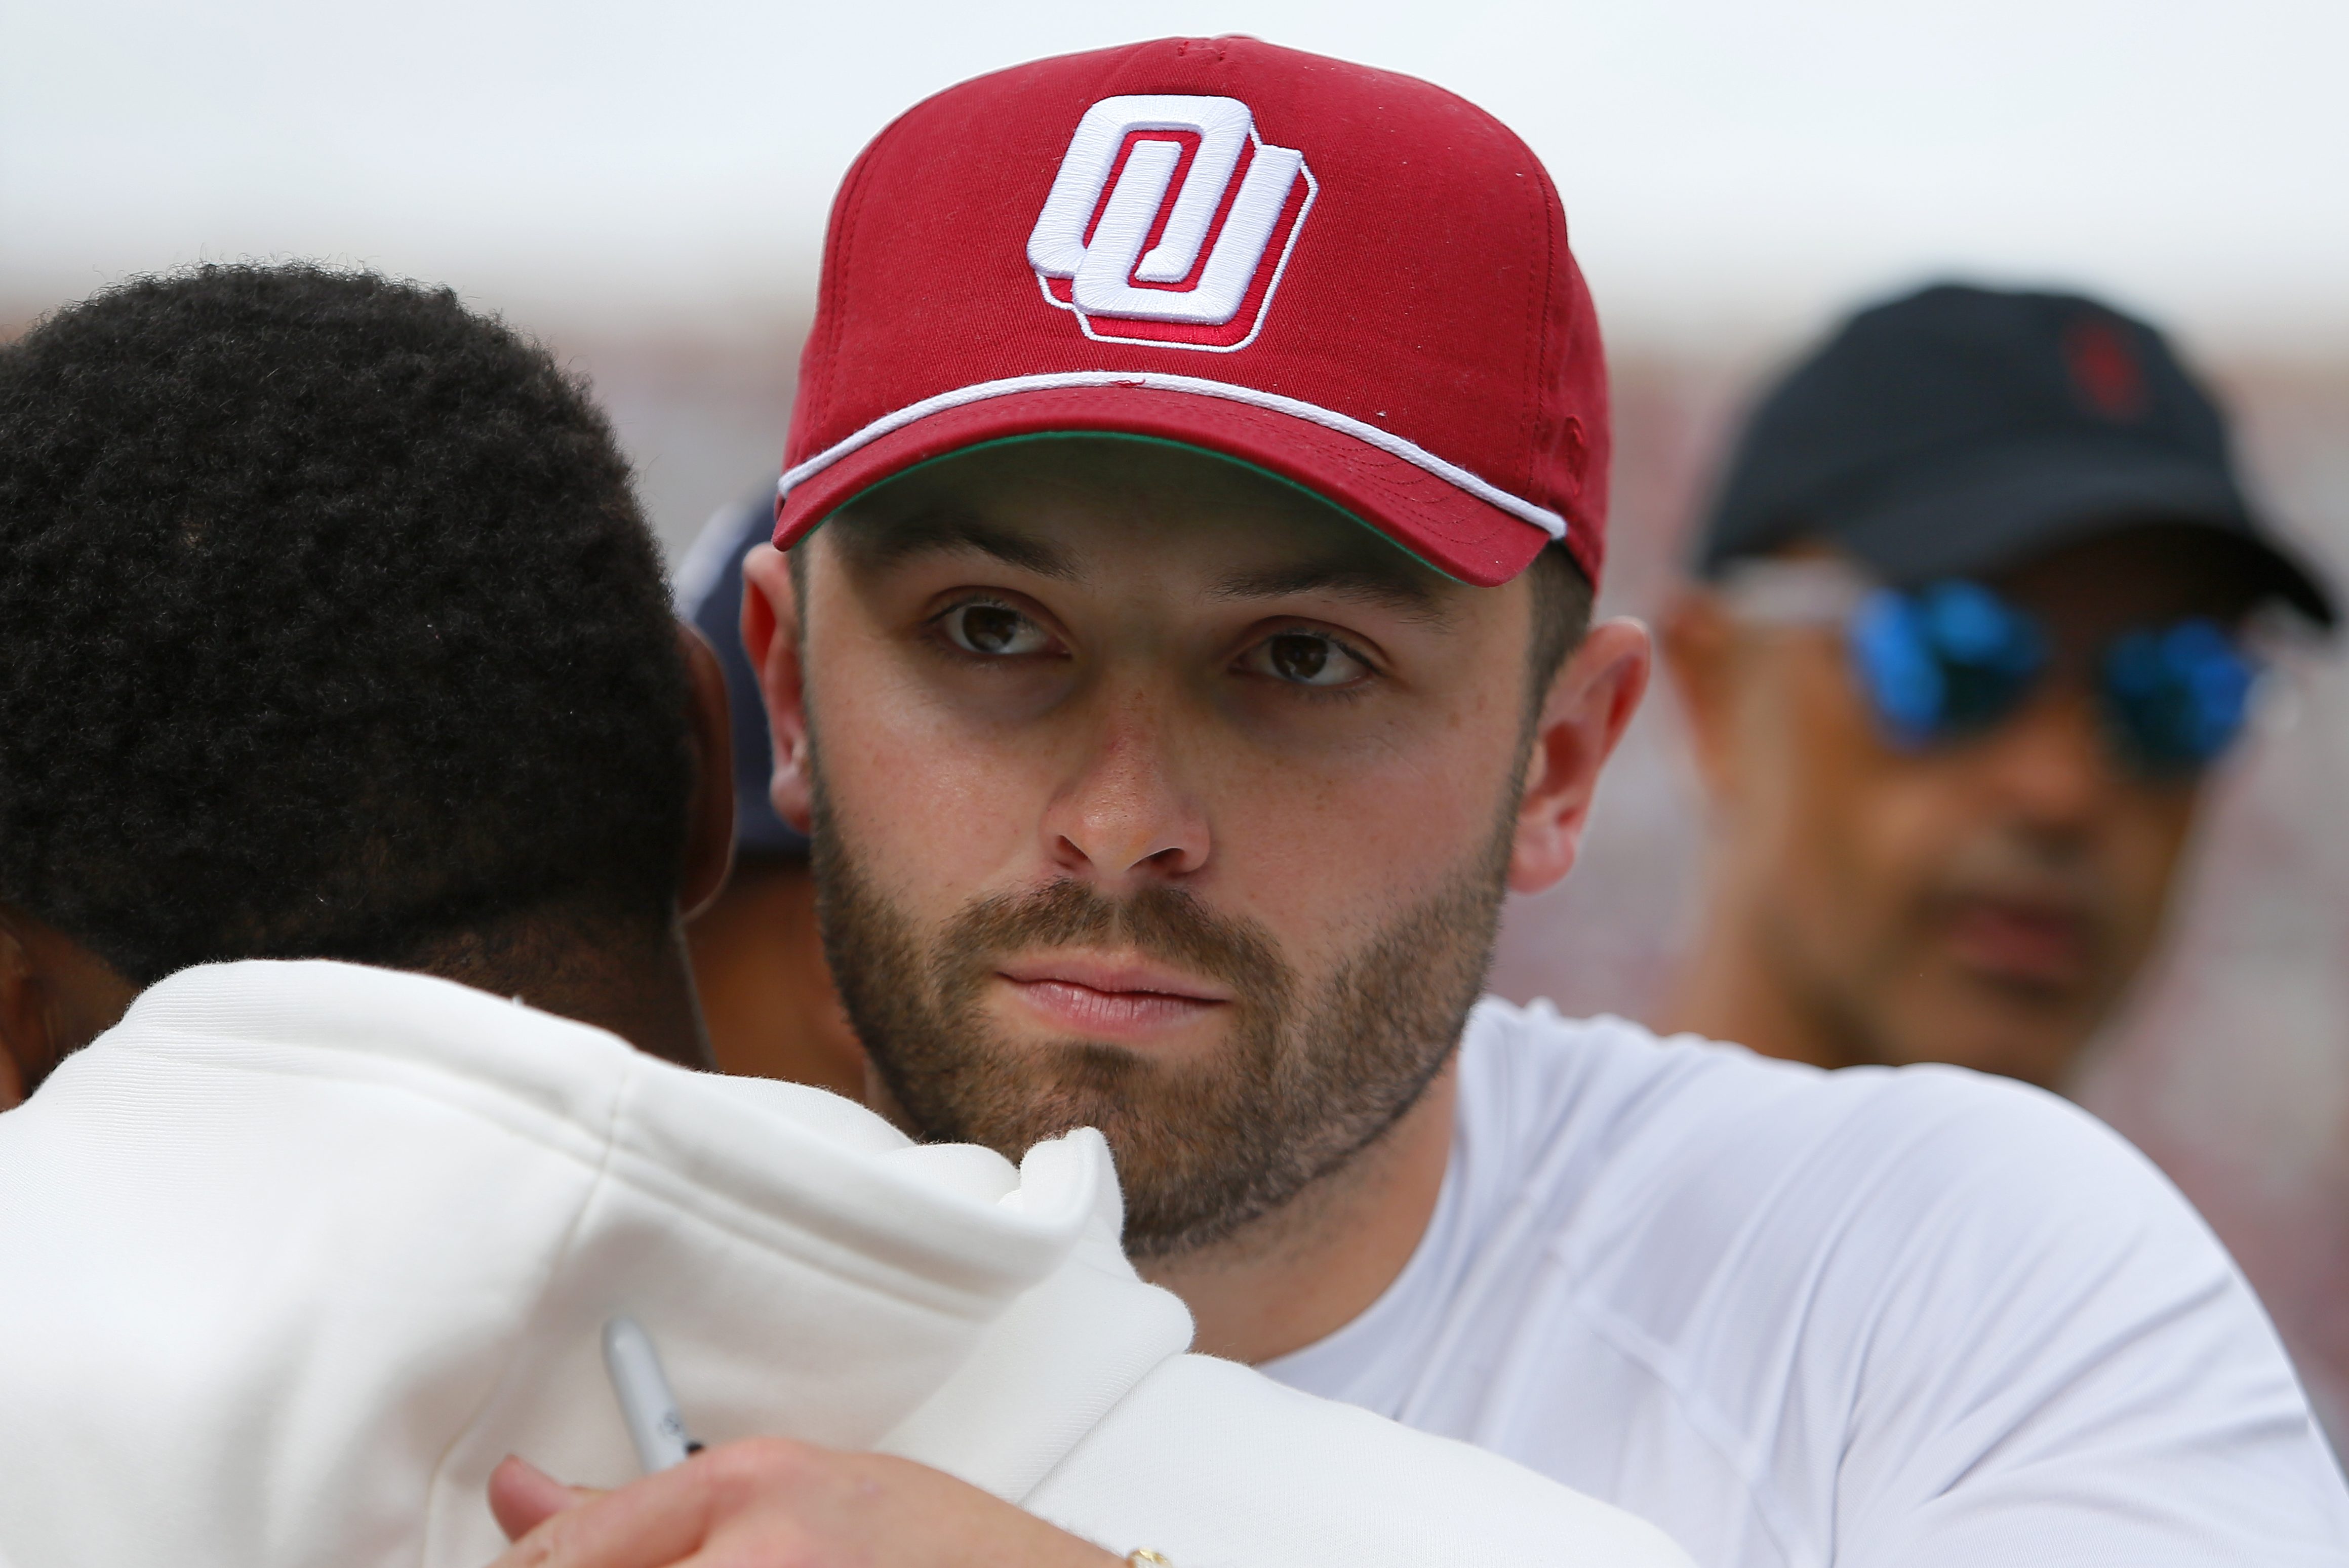
[(1525, 798), (1508, 857), (1510, 892), (1541, 892), (1574, 869), (1600, 768), (1640, 709), (1651, 657), (1647, 627), (1604, 620), (1557, 669), (1525, 763)]

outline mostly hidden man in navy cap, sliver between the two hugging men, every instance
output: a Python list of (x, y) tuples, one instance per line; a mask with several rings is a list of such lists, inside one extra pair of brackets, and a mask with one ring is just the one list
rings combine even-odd
[(775, 533), (759, 495), (709, 519), (677, 568), (677, 613), (726, 671), (733, 716), (735, 861), (726, 890), (686, 930), (709, 1047), (726, 1073), (782, 1077), (864, 1096), (864, 1049), (841, 1012), (815, 930), (808, 840), (766, 798), (773, 751), (766, 704), (742, 655), (742, 554)]

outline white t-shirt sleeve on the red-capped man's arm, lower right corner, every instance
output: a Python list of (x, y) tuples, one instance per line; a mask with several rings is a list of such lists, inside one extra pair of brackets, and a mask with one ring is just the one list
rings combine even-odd
[(2001, 1087), (1889, 1185), (1863, 1228), (1900, 1258), (1844, 1347), (1839, 1568), (2349, 1563), (2267, 1314), (2138, 1150)]

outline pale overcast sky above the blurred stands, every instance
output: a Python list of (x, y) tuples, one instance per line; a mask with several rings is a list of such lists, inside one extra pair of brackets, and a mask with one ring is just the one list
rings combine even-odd
[(2349, 352), (2344, 0), (0, 0), (0, 310), (334, 256), (568, 329), (789, 312), (914, 99), (1226, 31), (1501, 115), (1618, 340), (1966, 272)]

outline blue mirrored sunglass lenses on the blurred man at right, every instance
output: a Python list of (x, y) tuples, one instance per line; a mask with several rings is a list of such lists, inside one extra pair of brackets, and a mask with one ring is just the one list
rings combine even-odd
[[(1907, 751), (2004, 723), (2051, 664), (2039, 620), (1980, 582), (1875, 589), (1846, 627), (1860, 690)], [(2123, 631), (2095, 662), (2107, 739), (2142, 777), (2208, 768), (2243, 732), (2257, 678), (2257, 660), (2208, 617)]]

